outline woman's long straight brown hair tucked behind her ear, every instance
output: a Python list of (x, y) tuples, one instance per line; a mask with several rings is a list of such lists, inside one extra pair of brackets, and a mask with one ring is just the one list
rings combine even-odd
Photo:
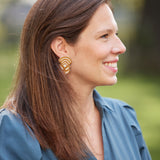
[(60, 160), (85, 159), (83, 127), (74, 108), (74, 91), (51, 50), (54, 38), (76, 43), (79, 34), (106, 0), (38, 0), (21, 35), (14, 97), (17, 113), (43, 149)]

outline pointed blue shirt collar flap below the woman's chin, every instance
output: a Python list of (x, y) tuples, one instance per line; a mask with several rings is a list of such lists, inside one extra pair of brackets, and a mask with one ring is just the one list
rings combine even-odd
[(111, 105), (107, 102), (107, 100), (103, 98), (96, 90), (93, 91), (93, 98), (98, 108), (103, 108), (107, 111), (114, 111)]

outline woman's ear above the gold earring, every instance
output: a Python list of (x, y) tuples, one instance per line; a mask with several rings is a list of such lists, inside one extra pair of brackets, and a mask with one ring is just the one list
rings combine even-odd
[(56, 37), (52, 41), (51, 49), (58, 57), (68, 56), (68, 53), (69, 53), (68, 52), (68, 43), (61, 36)]

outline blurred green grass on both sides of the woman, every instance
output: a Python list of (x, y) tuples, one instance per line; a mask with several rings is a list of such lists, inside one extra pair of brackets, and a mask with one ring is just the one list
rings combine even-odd
[[(0, 105), (9, 93), (16, 69), (17, 49), (0, 49)], [(147, 75), (118, 76), (114, 86), (97, 87), (102, 96), (118, 98), (130, 104), (137, 113), (144, 139), (152, 159), (160, 157), (160, 77)]]

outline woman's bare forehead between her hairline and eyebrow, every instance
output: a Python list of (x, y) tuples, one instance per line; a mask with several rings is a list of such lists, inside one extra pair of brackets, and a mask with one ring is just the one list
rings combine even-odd
[(89, 21), (88, 26), (83, 32), (96, 33), (100, 32), (101, 30), (118, 30), (117, 23), (114, 19), (113, 13), (106, 3), (102, 4), (96, 10), (93, 17)]

